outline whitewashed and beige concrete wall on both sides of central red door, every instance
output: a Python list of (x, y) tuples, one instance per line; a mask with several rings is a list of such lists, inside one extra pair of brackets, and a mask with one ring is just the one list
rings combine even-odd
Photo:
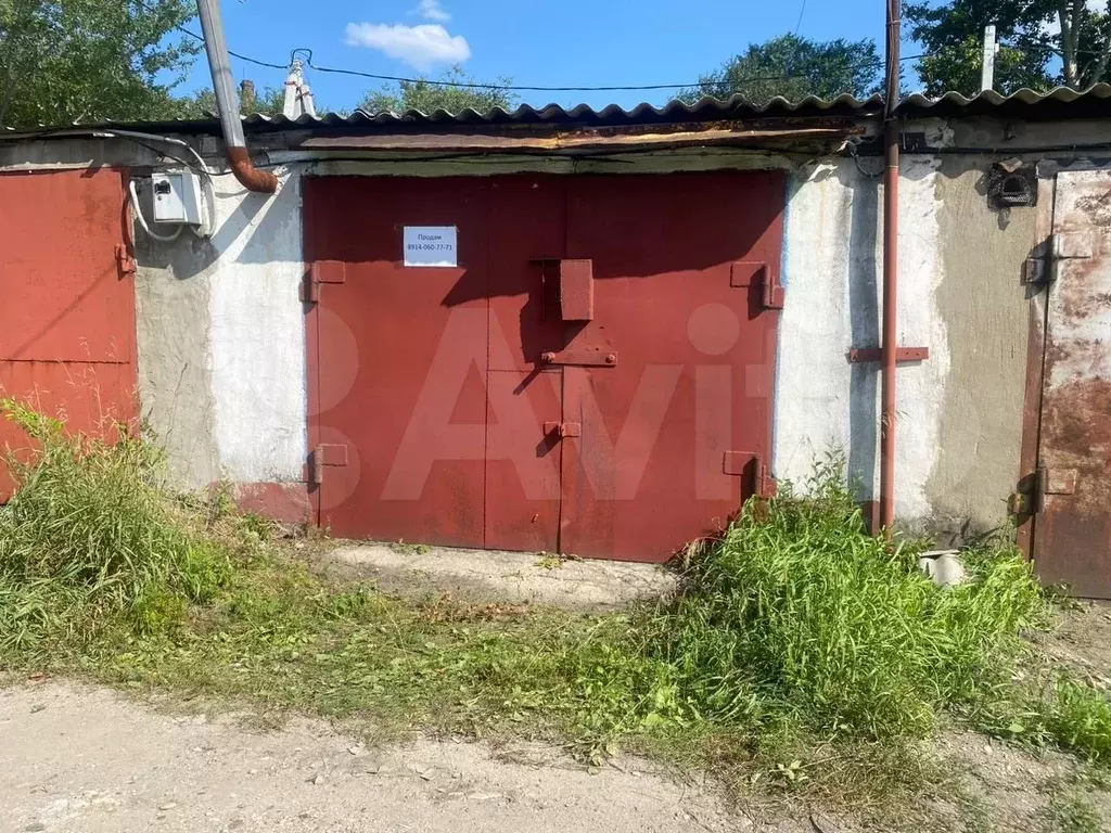
[[(930, 144), (995, 141), (925, 124)], [(1028, 131), (1029, 132), (1029, 131)], [(1025, 136), (1027, 133), (1020, 133)], [(111, 145), (114, 150), (106, 150)], [(0, 149), (11, 165), (121, 163), (147, 151), (103, 141)], [(206, 140), (202, 151), (218, 150)], [(114, 154), (114, 155), (112, 155)], [(915, 528), (954, 534), (1005, 522), (1019, 476), (1027, 304), (1020, 268), (1033, 245), (1033, 209), (991, 210), (992, 157), (905, 157), (900, 189), (900, 342), (928, 347), (898, 384), (897, 511)], [(213, 159), (213, 162), (216, 159)], [(491, 172), (645, 172), (785, 168), (782, 315), (773, 468), (804, 481), (815, 459), (844, 454), (862, 499), (878, 493), (879, 364), (850, 364), (852, 347), (879, 344), (881, 162), (742, 152), (631, 155), (625, 164), (519, 159), (458, 162), (320, 162), (274, 151), (272, 199), (216, 178), (216, 233), (157, 243), (137, 229), (140, 394), (183, 485), (224, 480), (284, 494), (303, 508), (306, 344), (299, 283), (301, 178), (316, 174), (484, 175)], [(274, 485), (277, 484), (277, 485)], [(268, 491), (269, 490), (269, 491)], [(277, 491), (276, 491), (277, 490)]]

